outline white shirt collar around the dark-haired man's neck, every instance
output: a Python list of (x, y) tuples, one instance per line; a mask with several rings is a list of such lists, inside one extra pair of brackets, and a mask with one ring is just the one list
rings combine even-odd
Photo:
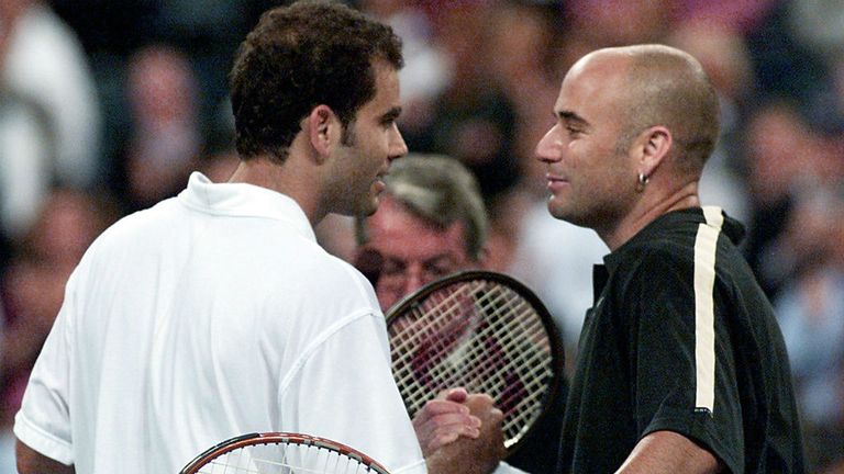
[(214, 183), (195, 171), (179, 202), (199, 212), (233, 217), (282, 221), (302, 236), (316, 241), (313, 227), (301, 206), (290, 196), (247, 183)]

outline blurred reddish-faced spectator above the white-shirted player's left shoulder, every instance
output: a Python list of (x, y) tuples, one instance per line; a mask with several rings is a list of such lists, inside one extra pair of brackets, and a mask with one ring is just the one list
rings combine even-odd
[(126, 80), (132, 125), (120, 166), (130, 211), (181, 190), (202, 147), (198, 86), (187, 57), (164, 45), (132, 56)]

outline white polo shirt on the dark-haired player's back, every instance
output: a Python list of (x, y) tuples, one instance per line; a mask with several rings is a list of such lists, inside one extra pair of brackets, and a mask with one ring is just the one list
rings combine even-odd
[(80, 473), (176, 473), (253, 431), (425, 472), (371, 286), (289, 198), (199, 173), (91, 246), (15, 421)]

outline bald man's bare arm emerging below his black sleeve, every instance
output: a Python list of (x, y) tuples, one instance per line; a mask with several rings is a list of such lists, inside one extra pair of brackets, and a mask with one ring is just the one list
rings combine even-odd
[(718, 459), (690, 439), (673, 431), (656, 431), (643, 438), (617, 474), (714, 474)]

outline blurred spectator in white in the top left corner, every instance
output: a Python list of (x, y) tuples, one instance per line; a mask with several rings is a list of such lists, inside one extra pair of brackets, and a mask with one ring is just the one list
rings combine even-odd
[(88, 58), (74, 32), (37, 0), (0, 0), (0, 82), (36, 102), (55, 136), (49, 180), (77, 188), (102, 171), (101, 116)]

